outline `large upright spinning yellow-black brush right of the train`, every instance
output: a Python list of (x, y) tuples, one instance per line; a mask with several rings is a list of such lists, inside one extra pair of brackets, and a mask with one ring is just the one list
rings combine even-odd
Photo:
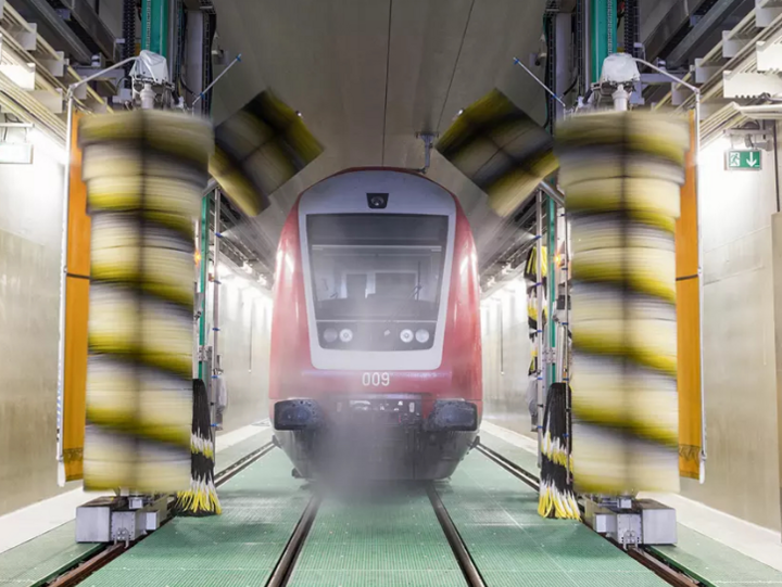
[(683, 122), (657, 113), (586, 114), (559, 127), (582, 494), (679, 489), (673, 232), (689, 145)]

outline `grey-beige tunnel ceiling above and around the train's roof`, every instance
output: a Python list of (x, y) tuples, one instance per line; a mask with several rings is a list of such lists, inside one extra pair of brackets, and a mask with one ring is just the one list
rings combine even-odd
[[(500, 88), (538, 122), (542, 90), (513, 58), (541, 49), (540, 0), (219, 0), (219, 46), (242, 63), (214, 97), (215, 123), (272, 88), (302, 112), (326, 152), (273, 196), (253, 247), (267, 261), (288, 210), (313, 182), (346, 167), (420, 167), (415, 133), (444, 131), (459, 109)], [(542, 68), (538, 72), (542, 75)], [(432, 155), (429, 177), (454, 192), (482, 260), (513, 232), (485, 196)]]

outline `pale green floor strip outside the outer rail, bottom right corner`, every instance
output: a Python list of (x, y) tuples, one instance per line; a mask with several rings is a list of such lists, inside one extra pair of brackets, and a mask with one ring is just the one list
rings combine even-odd
[(681, 524), (678, 532), (677, 546), (658, 546), (652, 551), (704, 585), (782, 585), (782, 572)]

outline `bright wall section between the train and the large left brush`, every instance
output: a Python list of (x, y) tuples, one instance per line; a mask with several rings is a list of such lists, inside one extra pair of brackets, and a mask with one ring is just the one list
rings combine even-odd
[(238, 277), (220, 292), (219, 354), (228, 390), (225, 432), (268, 418), (272, 298)]

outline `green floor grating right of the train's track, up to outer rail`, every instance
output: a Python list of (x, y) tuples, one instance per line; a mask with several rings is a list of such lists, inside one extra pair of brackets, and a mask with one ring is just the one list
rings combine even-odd
[(538, 494), (477, 451), (438, 492), (491, 587), (666, 585), (579, 522), (538, 515)]

